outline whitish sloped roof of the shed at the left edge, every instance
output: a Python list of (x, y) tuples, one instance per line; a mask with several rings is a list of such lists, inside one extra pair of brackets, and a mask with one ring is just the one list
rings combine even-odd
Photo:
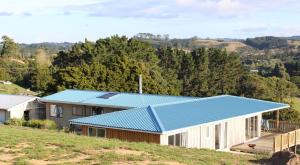
[(10, 109), (21, 103), (30, 101), (36, 97), (33, 96), (22, 96), (22, 95), (9, 95), (0, 94), (0, 109)]

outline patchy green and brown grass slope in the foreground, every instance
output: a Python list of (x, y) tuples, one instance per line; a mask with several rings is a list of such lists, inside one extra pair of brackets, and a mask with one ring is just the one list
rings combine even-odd
[(263, 156), (0, 125), (0, 164), (255, 164)]

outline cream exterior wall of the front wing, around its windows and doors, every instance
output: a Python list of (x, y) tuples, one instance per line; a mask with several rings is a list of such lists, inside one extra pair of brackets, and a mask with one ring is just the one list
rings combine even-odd
[[(258, 136), (261, 134), (261, 114), (258, 115)], [(251, 117), (251, 116), (249, 116)], [(168, 145), (168, 136), (177, 133), (187, 132), (188, 148), (208, 148), (215, 149), (215, 125), (221, 124), (221, 148), (225, 145), (225, 123), (227, 122), (227, 147), (230, 149), (232, 146), (246, 142), (245, 139), (245, 120), (247, 117), (234, 118), (230, 120), (224, 120), (220, 122), (213, 122), (209, 124), (203, 124), (195, 127), (178, 129), (162, 134), (160, 136), (161, 145)], [(209, 135), (207, 136), (207, 128), (209, 128)], [(225, 149), (225, 148), (224, 148)]]

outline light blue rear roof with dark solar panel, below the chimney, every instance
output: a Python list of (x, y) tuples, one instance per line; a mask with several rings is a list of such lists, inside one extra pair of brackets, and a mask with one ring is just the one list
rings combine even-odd
[(99, 92), (88, 90), (65, 90), (50, 96), (43, 97), (44, 102), (70, 103), (80, 105), (98, 105), (109, 107), (146, 107), (149, 105), (181, 102), (197, 99), (196, 97), (151, 95), (138, 93), (118, 93), (110, 98), (99, 98), (112, 92)]

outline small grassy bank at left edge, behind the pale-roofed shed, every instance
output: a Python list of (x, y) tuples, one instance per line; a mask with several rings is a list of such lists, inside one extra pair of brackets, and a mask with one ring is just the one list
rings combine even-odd
[(37, 95), (37, 93), (27, 91), (26, 89), (16, 84), (0, 84), (0, 94), (28, 94), (33, 96)]

